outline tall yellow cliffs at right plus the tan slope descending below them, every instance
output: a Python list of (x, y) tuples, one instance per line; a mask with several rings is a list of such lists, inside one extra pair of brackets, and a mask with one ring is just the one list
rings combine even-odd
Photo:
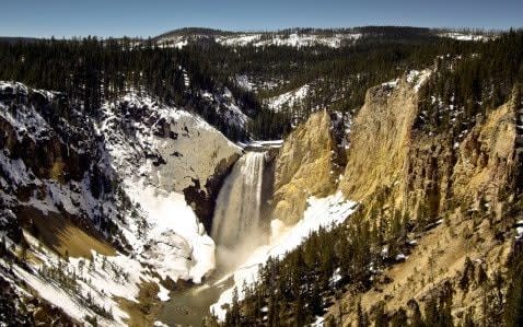
[[(344, 326), (358, 318), (359, 303), (369, 314), (383, 305), (392, 315), (416, 301), (425, 310), (449, 283), (457, 290), (451, 310), (456, 323), (467, 311), (483, 316), (480, 282), (473, 279), (474, 287), (465, 288), (463, 276), (484, 269), (493, 279), (510, 259), (519, 219), (514, 207), (521, 208), (514, 199), (521, 197), (516, 114), (522, 104), (513, 96), (460, 133), (452, 126), (423, 129), (418, 125), (421, 83), (404, 78), (369, 90), (351, 127), (339, 189), (362, 202), (371, 221), (379, 215), (387, 225), (395, 212), (404, 213), (408, 223), (399, 241), (416, 245), (406, 260), (383, 271), (386, 282), (348, 292), (332, 307), (333, 316), (346, 316)], [(339, 313), (339, 307), (351, 310)]]

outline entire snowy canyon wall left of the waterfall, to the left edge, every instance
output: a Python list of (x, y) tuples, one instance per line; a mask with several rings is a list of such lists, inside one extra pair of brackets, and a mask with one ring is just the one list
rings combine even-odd
[[(197, 214), (242, 150), (148, 96), (106, 102), (96, 118), (58, 114), (62, 100), (0, 83), (0, 277), (74, 320), (124, 325), (116, 299), (152, 282), (166, 300), (165, 280), (198, 283), (214, 268)], [(21, 254), (25, 264), (4, 259)]]

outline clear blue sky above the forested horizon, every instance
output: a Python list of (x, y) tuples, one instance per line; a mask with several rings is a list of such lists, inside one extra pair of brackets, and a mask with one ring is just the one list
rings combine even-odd
[(200, 26), (266, 31), (295, 26), (523, 26), (523, 0), (1, 0), (0, 35), (154, 36)]

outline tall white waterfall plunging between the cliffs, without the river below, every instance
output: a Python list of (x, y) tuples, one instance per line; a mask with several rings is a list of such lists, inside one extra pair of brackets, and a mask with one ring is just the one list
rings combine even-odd
[(218, 246), (231, 250), (248, 238), (262, 241), (256, 233), (260, 230), (264, 165), (265, 152), (246, 152), (226, 177), (212, 220), (211, 236)]

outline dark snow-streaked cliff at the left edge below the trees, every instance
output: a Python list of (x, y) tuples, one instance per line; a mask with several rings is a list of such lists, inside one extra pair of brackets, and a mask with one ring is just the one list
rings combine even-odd
[[(92, 150), (92, 145), (82, 140), (80, 133), (89, 135), (89, 127), (72, 130), (67, 121), (56, 121), (50, 102), (59, 103), (61, 100), (58, 94), (30, 92), (22, 84), (5, 89), (0, 90), (0, 93), (3, 97), (11, 94), (11, 97), (0, 103), (4, 109), (0, 114), (0, 148), (11, 157), (23, 157), (36, 177), (59, 183), (80, 180), (89, 170), (88, 153)], [(36, 107), (42, 112), (36, 113)], [(56, 121), (62, 133), (57, 133), (48, 120)], [(71, 120), (79, 125), (89, 124), (88, 119), (80, 117), (71, 117)]]

